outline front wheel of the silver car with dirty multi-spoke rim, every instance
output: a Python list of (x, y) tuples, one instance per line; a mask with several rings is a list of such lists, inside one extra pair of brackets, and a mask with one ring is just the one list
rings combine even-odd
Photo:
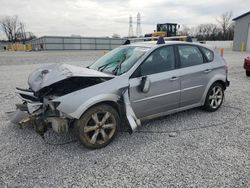
[(120, 118), (113, 107), (100, 104), (87, 110), (75, 123), (80, 142), (89, 149), (99, 149), (115, 138)]

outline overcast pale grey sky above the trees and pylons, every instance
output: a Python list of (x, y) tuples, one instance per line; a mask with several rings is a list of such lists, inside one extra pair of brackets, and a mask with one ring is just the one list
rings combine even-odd
[(127, 36), (129, 15), (135, 32), (138, 12), (144, 34), (157, 23), (216, 23), (223, 12), (236, 17), (249, 7), (250, 0), (0, 0), (0, 17), (18, 15), (37, 36)]

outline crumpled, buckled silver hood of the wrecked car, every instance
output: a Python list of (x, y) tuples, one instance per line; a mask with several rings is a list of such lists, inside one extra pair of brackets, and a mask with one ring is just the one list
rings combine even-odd
[(33, 71), (29, 75), (28, 84), (30, 89), (32, 89), (34, 92), (37, 92), (46, 86), (50, 86), (51, 84), (70, 77), (105, 78), (114, 76), (79, 66), (68, 64), (52, 64), (49, 66), (40, 67)]

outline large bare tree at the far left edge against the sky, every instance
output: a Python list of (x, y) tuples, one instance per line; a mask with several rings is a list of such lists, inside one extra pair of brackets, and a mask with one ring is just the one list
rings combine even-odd
[(0, 28), (10, 42), (25, 41), (25, 25), (18, 16), (5, 16), (0, 19)]

